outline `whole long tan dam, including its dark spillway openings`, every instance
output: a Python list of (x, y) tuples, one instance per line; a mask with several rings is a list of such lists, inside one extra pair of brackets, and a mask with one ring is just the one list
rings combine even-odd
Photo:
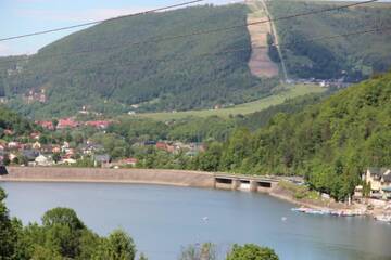
[(4, 182), (140, 183), (262, 193), (272, 191), (279, 180), (272, 177), (237, 176), (219, 172), (71, 167), (7, 167), (7, 169), (2, 169), (0, 176), (0, 181)]

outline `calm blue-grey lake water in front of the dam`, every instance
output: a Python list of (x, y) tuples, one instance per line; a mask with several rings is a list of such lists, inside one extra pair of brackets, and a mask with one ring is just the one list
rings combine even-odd
[(234, 243), (255, 243), (273, 247), (282, 260), (391, 259), (391, 225), (306, 216), (262, 194), (133, 184), (0, 186), (11, 214), (24, 223), (39, 221), (50, 208), (71, 207), (99, 234), (127, 231), (150, 260), (175, 260), (182, 246), (203, 242), (216, 244), (222, 255)]

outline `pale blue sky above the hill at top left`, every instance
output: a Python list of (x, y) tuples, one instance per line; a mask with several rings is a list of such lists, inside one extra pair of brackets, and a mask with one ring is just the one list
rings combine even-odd
[[(189, 0), (0, 0), (0, 39), (187, 1)], [(205, 0), (202, 4), (229, 2), (232, 0)], [(33, 54), (79, 29), (0, 41), (0, 56)]]

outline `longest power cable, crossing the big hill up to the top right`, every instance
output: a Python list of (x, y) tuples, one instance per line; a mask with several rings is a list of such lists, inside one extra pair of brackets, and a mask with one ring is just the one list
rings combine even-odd
[[(258, 21), (258, 22), (253, 22), (253, 23), (245, 23), (245, 24), (241, 24), (241, 25), (234, 25), (234, 26), (229, 26), (229, 27), (223, 27), (223, 28), (216, 28), (216, 29), (210, 29), (210, 30), (199, 30), (199, 31), (193, 31), (193, 32), (190, 32), (190, 34), (177, 35), (177, 36), (153, 37), (153, 38), (150, 38), (148, 40), (131, 41), (131, 42), (128, 42), (128, 43), (122, 43), (122, 44), (117, 44), (117, 46), (111, 46), (111, 47), (100, 48), (100, 49), (94, 49), (94, 50), (83, 50), (83, 51), (77, 51), (77, 52), (66, 52), (66, 53), (56, 53), (56, 54), (47, 54), (47, 55), (41, 54), (39, 57), (42, 58), (42, 57), (47, 57), (47, 56), (52, 57), (52, 56), (62, 56), (62, 55), (67, 56), (67, 55), (85, 54), (85, 53), (97, 52), (97, 51), (106, 51), (106, 50), (112, 50), (112, 49), (116, 49), (116, 48), (124, 48), (124, 44), (129, 47), (129, 46), (143, 46), (143, 44), (147, 44), (147, 43), (159, 43), (161, 41), (176, 40), (176, 39), (188, 38), (188, 37), (200, 36), (200, 35), (216, 34), (216, 32), (226, 31), (226, 30), (232, 30), (232, 29), (242, 28), (242, 27), (247, 27), (247, 26), (254, 26), (254, 25), (258, 25), (258, 24), (265, 24), (265, 23), (272, 23), (272, 22), (278, 22), (278, 21), (283, 21), (283, 20), (302, 17), (302, 16), (308, 16), (308, 15), (319, 14), (319, 13), (324, 13), (324, 12), (331, 12), (331, 11), (336, 11), (336, 10), (348, 9), (348, 8), (357, 6), (357, 5), (367, 4), (367, 3), (377, 2), (377, 1), (378, 0), (355, 2), (355, 3), (344, 4), (344, 5), (338, 5), (338, 6), (335, 6), (335, 8), (315, 10), (315, 11), (312, 11), (312, 12), (303, 12), (303, 13), (298, 13), (298, 14), (288, 15), (288, 16), (281, 16), (281, 17), (277, 17), (277, 18), (267, 18), (267, 20), (264, 20), (264, 21)], [(2, 64), (2, 63), (13, 63), (13, 62), (26, 61), (26, 60), (29, 60), (29, 56), (22, 57), (22, 58), (9, 60), (9, 61), (0, 61), (0, 64)]]

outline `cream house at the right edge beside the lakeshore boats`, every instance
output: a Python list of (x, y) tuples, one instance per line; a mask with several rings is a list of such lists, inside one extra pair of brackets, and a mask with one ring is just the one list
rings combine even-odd
[(390, 168), (368, 168), (365, 182), (370, 185), (370, 197), (390, 199), (391, 198), (391, 169)]

